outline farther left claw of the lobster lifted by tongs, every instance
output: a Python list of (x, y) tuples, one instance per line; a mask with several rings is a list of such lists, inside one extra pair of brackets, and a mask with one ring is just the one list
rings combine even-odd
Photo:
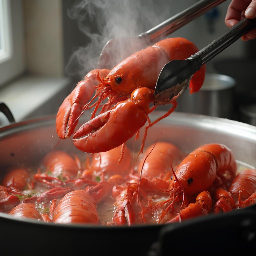
[(73, 134), (79, 115), (84, 105), (91, 99), (95, 90), (94, 86), (98, 84), (97, 72), (103, 77), (108, 75), (109, 70), (90, 71), (61, 104), (56, 117), (56, 131), (61, 139), (67, 139)]

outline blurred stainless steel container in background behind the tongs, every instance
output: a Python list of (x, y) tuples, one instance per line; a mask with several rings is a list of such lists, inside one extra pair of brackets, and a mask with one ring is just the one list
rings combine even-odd
[[(206, 74), (199, 92), (190, 94), (187, 89), (179, 97), (176, 111), (231, 119), (235, 84), (236, 81), (232, 77)], [(169, 105), (165, 105), (161, 110), (168, 108)]]

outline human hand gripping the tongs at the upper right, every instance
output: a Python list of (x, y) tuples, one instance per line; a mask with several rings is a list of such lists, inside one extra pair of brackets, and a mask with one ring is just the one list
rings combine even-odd
[[(225, 24), (230, 28), (245, 17), (256, 18), (256, 0), (232, 0), (227, 10)], [(254, 38), (256, 38), (256, 27), (242, 36), (243, 41)]]

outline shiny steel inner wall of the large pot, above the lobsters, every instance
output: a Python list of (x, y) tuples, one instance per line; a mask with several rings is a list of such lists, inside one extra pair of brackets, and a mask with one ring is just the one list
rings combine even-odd
[[(155, 120), (162, 112), (150, 115)], [(89, 119), (84, 116), (83, 121)], [(82, 120), (79, 124), (82, 124)], [(79, 126), (77, 126), (79, 127)], [(168, 141), (177, 145), (184, 152), (191, 152), (206, 143), (222, 143), (232, 149), (236, 159), (256, 166), (256, 127), (231, 121), (196, 114), (173, 113), (148, 130), (146, 146), (159, 141)], [(143, 129), (141, 130), (143, 133)], [(141, 136), (142, 137), (142, 136)], [(12, 124), (0, 128), (0, 170), (10, 165), (35, 164), (50, 152), (59, 138), (55, 130), (55, 117), (44, 117)], [(128, 141), (133, 148), (133, 139)], [(141, 141), (135, 143), (139, 150)], [(74, 147), (72, 140), (61, 140), (56, 150), (84, 154)]]

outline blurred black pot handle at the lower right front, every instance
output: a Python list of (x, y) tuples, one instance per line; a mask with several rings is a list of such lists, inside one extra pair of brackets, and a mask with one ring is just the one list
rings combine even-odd
[(255, 249), (255, 243), (256, 211), (251, 208), (165, 225), (147, 255), (182, 254), (193, 252), (195, 248), (209, 253), (221, 252), (221, 248), (225, 248), (224, 251), (233, 251), (238, 247), (249, 250)]

